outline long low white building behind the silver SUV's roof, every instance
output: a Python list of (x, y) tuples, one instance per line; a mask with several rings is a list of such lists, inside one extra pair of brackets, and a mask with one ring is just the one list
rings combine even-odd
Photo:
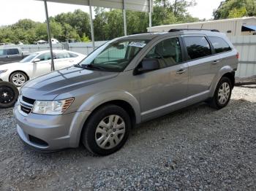
[[(173, 28), (217, 29), (228, 36), (256, 35), (256, 17), (241, 17), (224, 20), (211, 20), (197, 23), (181, 23), (165, 26), (154, 26), (153, 32), (169, 31)], [(149, 28), (147, 28), (149, 31)]]

